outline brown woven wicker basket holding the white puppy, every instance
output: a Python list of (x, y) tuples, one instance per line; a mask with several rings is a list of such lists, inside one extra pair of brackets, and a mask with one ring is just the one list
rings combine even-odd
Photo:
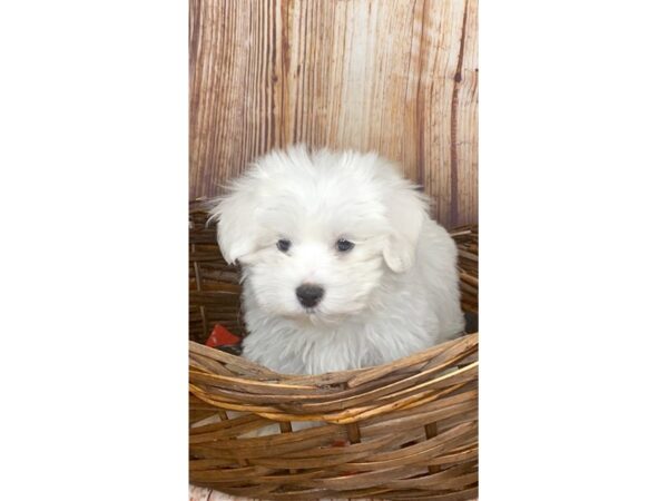
[[(237, 269), (223, 261), (200, 208), (190, 208), (190, 423), (218, 419), (190, 426), (190, 482), (261, 499), (477, 498), (478, 334), (316, 376), (277, 374), (204, 346), (216, 323), (244, 327)], [(462, 304), (477, 313), (478, 232), (451, 234)], [(293, 431), (312, 420), (326, 424)], [(276, 423), (281, 433), (254, 436)]]

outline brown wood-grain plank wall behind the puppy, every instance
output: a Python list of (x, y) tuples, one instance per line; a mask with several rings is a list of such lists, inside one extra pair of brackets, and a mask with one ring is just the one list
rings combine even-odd
[(375, 149), (478, 220), (477, 0), (190, 0), (190, 197), (305, 141)]

